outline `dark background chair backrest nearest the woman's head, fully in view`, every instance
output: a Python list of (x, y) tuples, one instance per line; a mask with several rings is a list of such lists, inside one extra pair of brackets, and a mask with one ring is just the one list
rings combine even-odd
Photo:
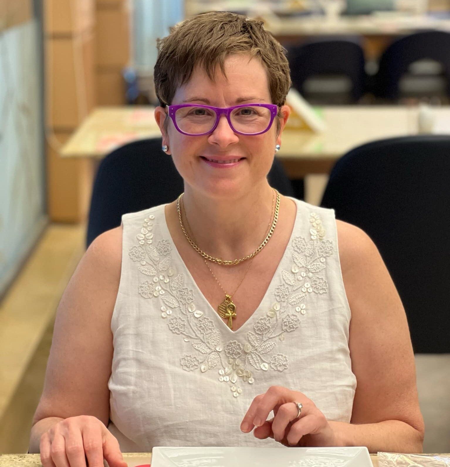
[(302, 94), (307, 78), (314, 75), (345, 75), (352, 81), (352, 98), (356, 102), (365, 91), (364, 52), (350, 39), (324, 39), (288, 50), (292, 85)]

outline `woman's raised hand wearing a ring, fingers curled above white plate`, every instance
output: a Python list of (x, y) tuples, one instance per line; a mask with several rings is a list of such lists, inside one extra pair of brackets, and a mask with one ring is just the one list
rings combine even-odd
[[(300, 417), (297, 402), (303, 405)], [(274, 418), (267, 420), (273, 410)], [(259, 439), (273, 438), (284, 446), (337, 446), (336, 436), (325, 415), (305, 394), (282, 386), (271, 386), (253, 399), (241, 430)]]

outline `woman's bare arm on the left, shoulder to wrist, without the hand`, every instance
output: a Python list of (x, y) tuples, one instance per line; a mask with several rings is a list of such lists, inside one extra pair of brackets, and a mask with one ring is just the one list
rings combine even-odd
[(121, 227), (100, 235), (64, 291), (33, 419), (31, 453), (39, 452), (43, 433), (69, 417), (92, 416), (108, 425), (111, 315), (120, 281), (121, 249)]

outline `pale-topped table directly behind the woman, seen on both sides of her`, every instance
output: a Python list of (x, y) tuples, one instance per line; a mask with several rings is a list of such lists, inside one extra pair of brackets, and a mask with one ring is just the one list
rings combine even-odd
[[(320, 134), (285, 129), (278, 152), (288, 176), (329, 173), (348, 150), (369, 141), (417, 133), (416, 107), (334, 106), (320, 112), (327, 129)], [(450, 133), (450, 106), (434, 109), (436, 124)], [(448, 122), (448, 125), (446, 123)], [(97, 107), (62, 148), (62, 157), (103, 158), (114, 146), (159, 136), (149, 106)]]

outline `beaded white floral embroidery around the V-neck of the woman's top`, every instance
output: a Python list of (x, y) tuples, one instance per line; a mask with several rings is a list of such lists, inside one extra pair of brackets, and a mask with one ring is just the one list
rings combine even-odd
[(153, 219), (152, 214), (144, 220), (140, 233), (136, 235), (138, 245), (132, 246), (128, 254), (133, 262), (139, 263), (139, 272), (148, 277), (139, 283), (139, 295), (160, 300), (161, 317), (168, 318), (169, 330), (183, 336), (184, 341), (196, 351), (196, 354), (184, 354), (180, 358), (181, 368), (185, 371), (200, 368), (205, 373), (220, 367), (219, 381), (230, 385), (234, 397), (242, 394), (238, 380), (249, 384), (255, 382), (254, 370), (283, 372), (288, 369), (286, 355), (268, 354), (277, 347), (277, 338), (283, 341), (284, 333), (292, 333), (299, 328), (300, 315), (306, 314), (306, 305), (302, 302), (308, 295), (322, 295), (328, 291), (325, 277), (318, 274), (325, 269), (326, 258), (334, 253), (334, 245), (331, 240), (324, 240), (325, 229), (319, 216), (314, 212), (310, 215), (309, 240), (301, 236), (292, 239), (291, 270), (281, 271), (282, 282), (274, 291), (277, 301), (266, 316), (256, 320), (245, 340), (226, 342), (222, 342), (222, 334), (214, 320), (197, 309), (194, 292), (185, 284), (185, 276), (177, 274), (172, 266), (171, 242), (160, 239), (156, 246), (153, 244)]

